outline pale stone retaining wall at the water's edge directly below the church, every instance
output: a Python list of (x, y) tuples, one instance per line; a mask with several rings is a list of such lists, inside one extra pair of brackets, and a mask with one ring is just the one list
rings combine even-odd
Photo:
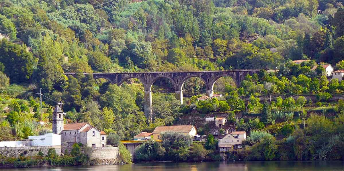
[(90, 148), (87, 152), (90, 159), (117, 159), (119, 156), (118, 147), (96, 147)]

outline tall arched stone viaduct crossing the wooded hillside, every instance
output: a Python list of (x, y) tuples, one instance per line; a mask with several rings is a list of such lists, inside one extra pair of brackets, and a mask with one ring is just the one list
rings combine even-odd
[[(213, 96), (213, 87), (217, 79), (228, 76), (236, 81), (237, 85), (246, 75), (258, 73), (259, 69), (237, 69), (227, 71), (198, 71), (198, 72), (137, 72), (137, 73), (92, 73), (94, 79), (104, 78), (113, 84), (121, 84), (130, 79), (139, 79), (144, 86), (144, 114), (147, 119), (152, 119), (152, 85), (160, 78), (167, 78), (174, 86), (176, 98), (183, 104), (183, 84), (191, 77), (199, 77), (205, 83), (206, 95)], [(86, 74), (86, 73), (85, 73)], [(65, 73), (75, 77), (75, 73)]]

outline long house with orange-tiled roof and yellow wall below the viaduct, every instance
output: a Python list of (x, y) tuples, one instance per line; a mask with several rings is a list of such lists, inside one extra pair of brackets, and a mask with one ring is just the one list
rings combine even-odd
[(158, 126), (153, 131), (153, 139), (161, 139), (161, 133), (164, 132), (177, 132), (190, 137), (194, 137), (197, 134), (196, 127), (193, 125)]

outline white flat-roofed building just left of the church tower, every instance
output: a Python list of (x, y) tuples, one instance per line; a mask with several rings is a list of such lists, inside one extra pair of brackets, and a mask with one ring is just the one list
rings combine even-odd
[(32, 146), (61, 146), (61, 135), (49, 133), (38, 136), (29, 136)]

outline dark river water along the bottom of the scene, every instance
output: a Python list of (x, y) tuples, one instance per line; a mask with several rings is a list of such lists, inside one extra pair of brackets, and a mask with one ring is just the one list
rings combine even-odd
[(344, 171), (344, 161), (150, 162), (125, 165), (0, 169), (1, 171)]

